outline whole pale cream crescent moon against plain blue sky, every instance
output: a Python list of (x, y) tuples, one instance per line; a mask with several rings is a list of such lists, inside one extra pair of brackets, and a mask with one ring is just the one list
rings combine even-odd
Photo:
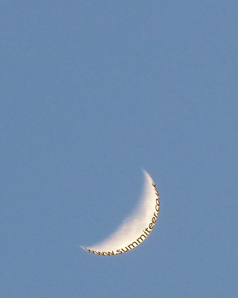
[(145, 170), (143, 173), (143, 195), (135, 211), (111, 236), (93, 246), (81, 246), (83, 249), (104, 256), (122, 254), (140, 245), (150, 235), (158, 219), (160, 199), (151, 176)]

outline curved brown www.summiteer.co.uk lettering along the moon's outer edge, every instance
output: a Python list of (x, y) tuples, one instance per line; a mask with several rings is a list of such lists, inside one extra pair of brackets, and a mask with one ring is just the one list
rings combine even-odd
[[(158, 190), (157, 190), (156, 185), (153, 182), (152, 182), (152, 185), (154, 187), (155, 194), (157, 195), (155, 210), (156, 210), (157, 215), (158, 215), (159, 214), (159, 209), (160, 209), (160, 207), (159, 207), (160, 206), (160, 198), (159, 198), (159, 194), (158, 194)], [(105, 256), (105, 255), (110, 256), (110, 255), (115, 255), (115, 254), (122, 254), (123, 252), (128, 252), (129, 249), (132, 249), (132, 248), (136, 247), (137, 245), (139, 245), (140, 242), (142, 242), (149, 235), (149, 233), (153, 229), (154, 224), (155, 224), (156, 219), (157, 219), (157, 215), (155, 214), (156, 212), (154, 212), (154, 216), (151, 219), (152, 222), (149, 224), (149, 227), (146, 228), (145, 230), (143, 230), (143, 232), (144, 232), (145, 235), (144, 234), (141, 234), (139, 238), (137, 238), (135, 241), (133, 241), (128, 246), (125, 246), (125, 250), (123, 248), (121, 248), (121, 249), (118, 249), (116, 253), (114, 253), (114, 251), (112, 251), (112, 252), (96, 252), (95, 250), (90, 250), (90, 249), (87, 249), (86, 247), (84, 247), (84, 248), (88, 252), (92, 252), (93, 254), (95, 254), (95, 253), (96, 254), (100, 254), (100, 255), (103, 255), (103, 256)]]

